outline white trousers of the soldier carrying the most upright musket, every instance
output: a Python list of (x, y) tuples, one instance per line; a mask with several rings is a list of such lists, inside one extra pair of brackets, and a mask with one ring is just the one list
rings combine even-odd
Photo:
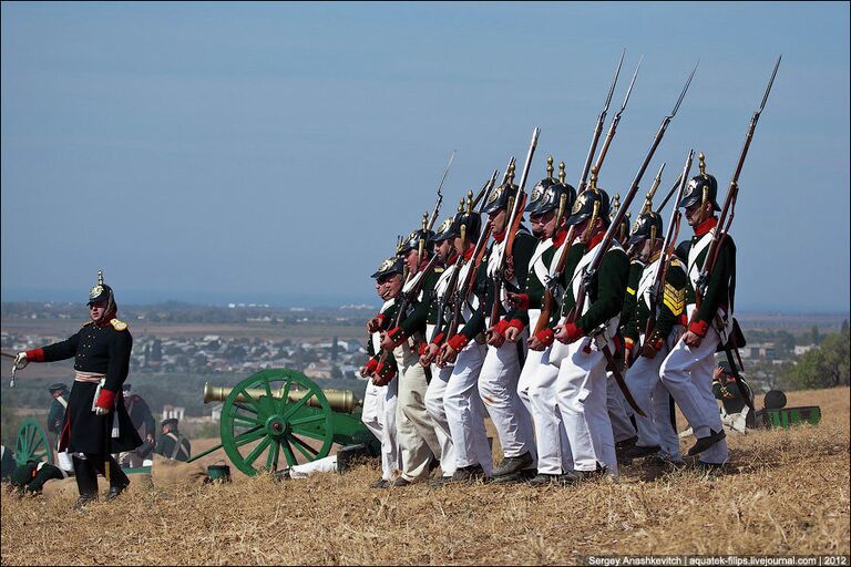
[(537, 460), (532, 416), (517, 395), (522, 350), (525, 353), (529, 331), (523, 330), (519, 342), (505, 341), (499, 349), (488, 346), (479, 377), (479, 393), (493, 421), (505, 457), (529, 452), (533, 466)]

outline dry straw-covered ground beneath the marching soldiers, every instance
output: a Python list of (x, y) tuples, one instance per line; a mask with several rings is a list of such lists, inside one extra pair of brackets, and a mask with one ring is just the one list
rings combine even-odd
[[(575, 487), (368, 488), (377, 468), (141, 483), (113, 503), (2, 497), (2, 565), (571, 564), (593, 554), (849, 554), (849, 389), (797, 392), (817, 426), (730, 435), (721, 475)], [(761, 403), (758, 403), (758, 406)], [(684, 440), (684, 447), (693, 439)], [(654, 478), (655, 476), (655, 478)]]

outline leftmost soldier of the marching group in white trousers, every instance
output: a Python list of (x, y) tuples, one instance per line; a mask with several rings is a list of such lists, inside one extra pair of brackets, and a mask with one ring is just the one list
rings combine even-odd
[[(376, 280), (376, 292), (385, 301), (378, 316), (367, 323), (367, 352), (369, 361), (360, 369), (360, 375), (368, 378), (367, 391), (363, 395), (363, 413), (361, 421), (381, 442), (381, 477), (372, 483), (373, 488), (386, 488), (402, 467), (401, 452), (396, 426), (399, 381), (396, 359), (387, 357), (381, 372), (376, 373), (381, 352), (381, 331), (387, 330), (390, 319), (396, 313), (396, 298), (402, 290), (402, 260), (397, 257), (388, 258), (378, 267), (372, 278)], [(382, 385), (378, 385), (382, 384)]]

